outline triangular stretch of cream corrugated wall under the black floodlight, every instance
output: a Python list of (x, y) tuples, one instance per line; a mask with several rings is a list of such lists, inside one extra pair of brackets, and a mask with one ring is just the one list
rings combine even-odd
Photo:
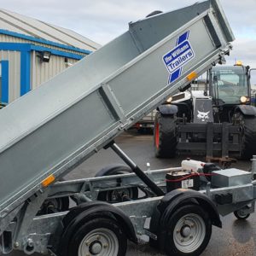
[(31, 88), (35, 89), (38, 85), (43, 84), (47, 80), (53, 78), (56, 74), (61, 73), (64, 69), (69, 67), (69, 64), (75, 63), (76, 60), (67, 59), (61, 56), (51, 55), (49, 62), (42, 62), (36, 55), (35, 51), (32, 52), (32, 70), (31, 70)]

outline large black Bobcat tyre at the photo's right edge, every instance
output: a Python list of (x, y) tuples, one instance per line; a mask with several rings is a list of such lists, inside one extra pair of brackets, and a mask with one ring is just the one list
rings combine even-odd
[(243, 137), (241, 138), (241, 159), (249, 160), (256, 154), (256, 116), (242, 115)]

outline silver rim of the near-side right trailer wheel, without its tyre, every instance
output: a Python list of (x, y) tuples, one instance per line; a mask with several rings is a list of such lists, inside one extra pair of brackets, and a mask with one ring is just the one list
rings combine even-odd
[(206, 236), (206, 225), (201, 216), (190, 213), (180, 218), (173, 230), (173, 241), (182, 253), (193, 253)]

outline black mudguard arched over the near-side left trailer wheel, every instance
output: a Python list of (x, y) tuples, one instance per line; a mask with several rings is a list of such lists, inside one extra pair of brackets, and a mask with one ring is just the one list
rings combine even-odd
[(137, 236), (131, 223), (131, 219), (125, 215), (119, 208), (113, 207), (106, 202), (91, 201), (74, 207), (67, 216), (63, 218), (63, 232), (60, 244), (57, 246), (57, 255), (66, 256), (67, 246), (75, 230), (81, 225), (94, 218), (108, 217), (115, 219), (127, 238), (137, 243)]

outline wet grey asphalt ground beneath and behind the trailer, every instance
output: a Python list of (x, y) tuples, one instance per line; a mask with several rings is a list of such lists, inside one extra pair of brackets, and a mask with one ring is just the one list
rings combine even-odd
[[(152, 135), (141, 135), (137, 131), (128, 131), (116, 139), (116, 143), (134, 160), (138, 166), (146, 170), (146, 163), (149, 162), (151, 169), (180, 166), (181, 161), (190, 157), (195, 160), (204, 160), (201, 156), (183, 155), (175, 159), (162, 160), (154, 158)], [(78, 166), (73, 172), (67, 175), (67, 179), (93, 177), (103, 167), (114, 163), (123, 164), (123, 161), (113, 153), (112, 149), (102, 149), (89, 160)], [(238, 161), (232, 167), (248, 170), (251, 166), (249, 161)], [(202, 256), (256, 256), (256, 214), (252, 214), (247, 220), (236, 220), (233, 214), (224, 218), (223, 229), (213, 227), (212, 239)], [(14, 252), (11, 256), (25, 256), (24, 253)], [(32, 254), (39, 256), (38, 253)], [(154, 248), (148, 245), (137, 246), (129, 242), (126, 255), (128, 256), (161, 256)]]

